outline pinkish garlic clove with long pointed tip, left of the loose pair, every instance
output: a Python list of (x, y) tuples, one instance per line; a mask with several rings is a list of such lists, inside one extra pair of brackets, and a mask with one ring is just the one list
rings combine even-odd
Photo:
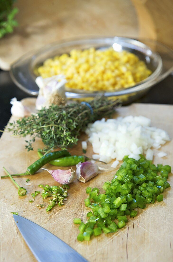
[(68, 170), (62, 170), (62, 169), (56, 169), (56, 170), (49, 170), (46, 168), (42, 168), (44, 170), (47, 170), (51, 176), (57, 181), (59, 184), (65, 185), (70, 184), (73, 182), (76, 176), (76, 171), (73, 170), (73, 168), (70, 168)]

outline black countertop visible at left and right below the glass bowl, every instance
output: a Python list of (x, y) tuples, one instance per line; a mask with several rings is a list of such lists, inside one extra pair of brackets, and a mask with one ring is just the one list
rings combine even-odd
[[(11, 80), (9, 72), (2, 70), (0, 70), (0, 90), (0, 129), (3, 130), (11, 116), (11, 98), (16, 97), (20, 101), (28, 97), (28, 95), (17, 88)], [(173, 105), (173, 76), (170, 75), (159, 84), (153, 86), (145, 96), (135, 102)]]

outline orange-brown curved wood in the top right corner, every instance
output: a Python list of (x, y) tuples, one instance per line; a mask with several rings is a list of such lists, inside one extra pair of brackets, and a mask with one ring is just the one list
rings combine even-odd
[(173, 48), (173, 1), (131, 0), (138, 19), (139, 37), (156, 39)]

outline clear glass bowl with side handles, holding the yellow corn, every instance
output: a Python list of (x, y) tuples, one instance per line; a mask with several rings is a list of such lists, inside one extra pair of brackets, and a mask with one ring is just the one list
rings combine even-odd
[(10, 75), (15, 84), (27, 94), (37, 96), (39, 88), (35, 83), (38, 76), (37, 68), (47, 58), (52, 58), (63, 53), (69, 53), (72, 49), (105, 49), (113, 47), (115, 51), (126, 50), (134, 53), (144, 61), (153, 72), (149, 77), (136, 85), (118, 91), (86, 91), (66, 88), (68, 99), (86, 100), (104, 93), (107, 97), (119, 97), (124, 103), (132, 102), (144, 95), (154, 84), (157, 84), (173, 70), (173, 51), (154, 40), (135, 40), (126, 37), (92, 37), (59, 41), (32, 51), (19, 58), (12, 66)]

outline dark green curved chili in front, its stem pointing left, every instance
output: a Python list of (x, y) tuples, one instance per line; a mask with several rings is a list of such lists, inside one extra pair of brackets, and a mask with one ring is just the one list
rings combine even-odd
[[(35, 172), (37, 172), (42, 166), (45, 164), (49, 163), (51, 160), (55, 160), (59, 157), (62, 156), (70, 156), (70, 153), (66, 150), (62, 151), (55, 151), (55, 152), (50, 152), (46, 154), (45, 156), (41, 157), (37, 161), (35, 161), (32, 165), (30, 165), (27, 168), (27, 171), (25, 173), (21, 174), (13, 174), (11, 176), (26, 176), (26, 175), (33, 175)], [(8, 176), (2, 176), (1, 178), (8, 177)]]

